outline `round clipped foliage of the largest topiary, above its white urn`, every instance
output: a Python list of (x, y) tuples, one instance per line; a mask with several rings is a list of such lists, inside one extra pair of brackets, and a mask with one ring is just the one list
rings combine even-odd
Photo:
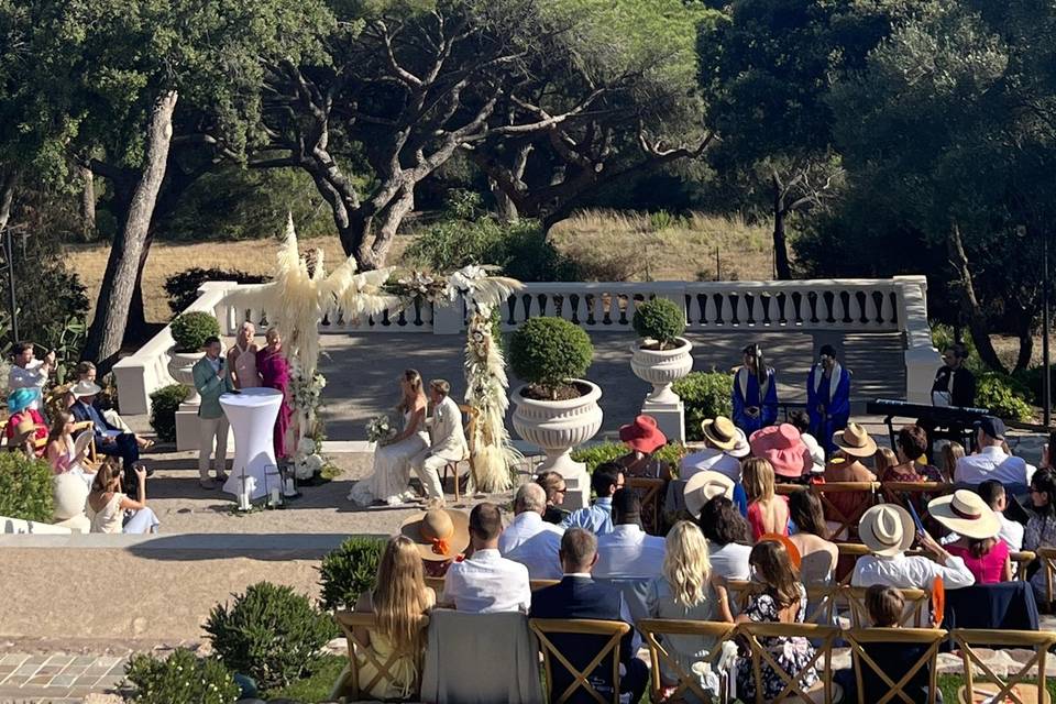
[(509, 338), (509, 364), (528, 384), (551, 394), (583, 376), (594, 359), (591, 338), (563, 318), (532, 318)]

